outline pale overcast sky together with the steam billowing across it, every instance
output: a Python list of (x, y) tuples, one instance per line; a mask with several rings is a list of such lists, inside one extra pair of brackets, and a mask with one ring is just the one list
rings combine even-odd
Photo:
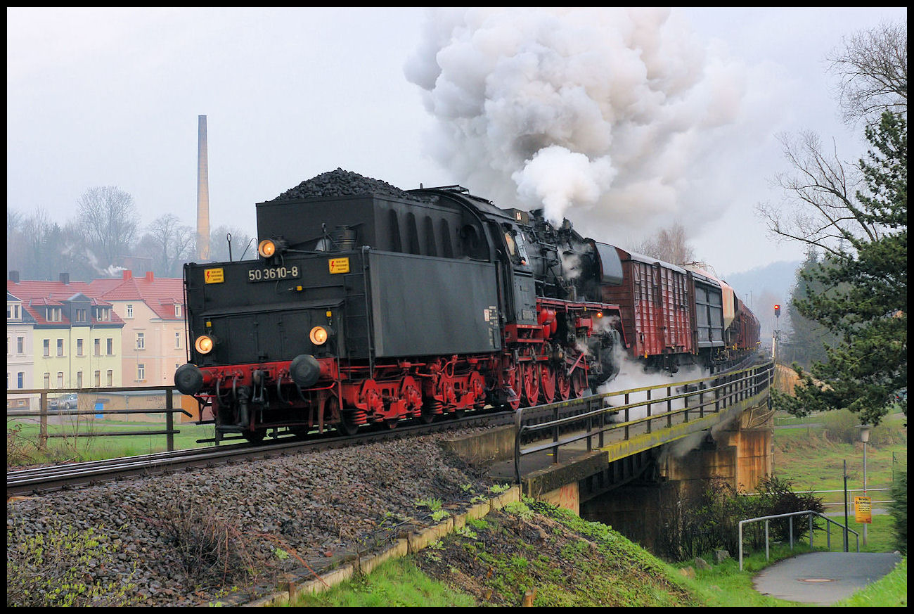
[[(812, 130), (856, 161), (862, 130), (840, 121), (825, 57), (907, 19), (506, 10), (7, 8), (7, 206), (63, 223), (87, 189), (116, 185), (144, 224), (194, 225), (207, 115), (210, 228), (254, 234), (255, 203), (342, 167), (403, 189), (462, 183), (503, 207), (538, 198), (622, 247), (678, 221), (727, 275), (802, 259), (754, 215), (781, 196), (775, 136)], [(550, 63), (557, 53), (574, 66)], [(542, 79), (550, 103), (518, 102)], [(533, 145), (512, 129), (531, 122), (546, 125)]]

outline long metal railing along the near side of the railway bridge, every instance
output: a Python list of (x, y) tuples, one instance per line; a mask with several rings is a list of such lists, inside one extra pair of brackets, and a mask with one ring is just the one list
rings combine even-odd
[[(552, 462), (557, 463), (558, 450), (561, 446), (582, 439), (587, 439), (587, 450), (590, 451), (593, 449), (595, 438), (598, 441), (597, 447), (602, 448), (605, 434), (612, 430), (622, 430), (623, 439), (628, 440), (630, 430), (637, 425), (645, 425), (646, 432), (650, 433), (657, 420), (663, 420), (664, 427), (671, 427), (674, 418), (678, 419), (679, 416), (682, 417), (683, 422), (687, 423), (690, 414), (691, 419), (694, 419), (696, 416), (704, 418), (706, 414), (719, 413), (734, 403), (755, 397), (769, 388), (773, 381), (773, 366), (773, 362), (769, 361), (761, 365), (685, 382), (605, 392), (536, 408), (518, 408), (515, 412), (515, 480), (520, 483), (520, 459), (528, 454), (551, 449)], [(673, 394), (674, 388), (684, 388), (685, 392)], [(666, 391), (664, 397), (652, 397), (652, 392), (663, 389)], [(646, 398), (632, 402), (632, 396), (640, 394), (644, 394)], [(621, 406), (606, 405), (608, 399), (614, 397), (622, 397)], [(683, 407), (673, 408), (674, 403), (680, 401)], [(559, 418), (560, 410), (571, 407), (584, 407), (585, 410), (583, 413)], [(657, 407), (661, 408), (659, 413), (656, 412)], [(645, 415), (641, 418), (632, 418), (631, 412), (634, 408), (645, 408)], [(540, 421), (537, 424), (525, 422), (525, 412), (536, 413), (541, 417), (550, 411), (552, 413), (550, 420)], [(622, 422), (611, 421), (611, 418), (618, 416), (622, 416)], [(568, 429), (570, 425), (579, 425), (584, 432), (559, 439), (560, 431), (563, 428)], [(522, 449), (522, 439), (543, 431), (551, 432), (551, 442)]]

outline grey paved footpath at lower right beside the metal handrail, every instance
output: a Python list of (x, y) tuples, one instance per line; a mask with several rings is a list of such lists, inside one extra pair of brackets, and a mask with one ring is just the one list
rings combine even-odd
[(753, 580), (762, 595), (829, 606), (875, 582), (901, 556), (882, 552), (811, 552), (763, 569)]

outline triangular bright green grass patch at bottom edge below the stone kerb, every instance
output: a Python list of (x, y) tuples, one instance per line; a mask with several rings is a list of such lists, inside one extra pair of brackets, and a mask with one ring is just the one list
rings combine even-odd
[[(290, 604), (282, 604), (290, 605)], [(410, 558), (387, 561), (368, 576), (353, 577), (317, 595), (299, 596), (291, 604), (300, 606), (471, 607), (475, 600), (446, 587), (425, 574)]]

